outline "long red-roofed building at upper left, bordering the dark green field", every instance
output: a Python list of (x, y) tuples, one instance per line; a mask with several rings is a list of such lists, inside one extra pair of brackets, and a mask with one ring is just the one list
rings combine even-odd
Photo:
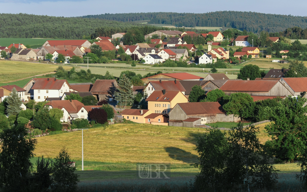
[(83, 46), (87, 49), (91, 46), (91, 42), (88, 40), (48, 40), (43, 44), (44, 46)]

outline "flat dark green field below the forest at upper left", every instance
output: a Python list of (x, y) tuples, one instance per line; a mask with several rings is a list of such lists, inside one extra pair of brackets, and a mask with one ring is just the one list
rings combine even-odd
[[(65, 40), (65, 39), (40, 39), (40, 38), (0, 38), (1, 46), (9, 46), (12, 43), (31, 45), (30, 48), (36, 49), (41, 47), (47, 40)], [(29, 47), (28, 47), (29, 48)]]

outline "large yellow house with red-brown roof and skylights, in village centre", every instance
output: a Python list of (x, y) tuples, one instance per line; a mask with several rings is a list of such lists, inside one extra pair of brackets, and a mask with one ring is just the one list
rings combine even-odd
[(148, 109), (153, 113), (167, 114), (177, 103), (188, 103), (180, 91), (156, 90), (146, 99)]

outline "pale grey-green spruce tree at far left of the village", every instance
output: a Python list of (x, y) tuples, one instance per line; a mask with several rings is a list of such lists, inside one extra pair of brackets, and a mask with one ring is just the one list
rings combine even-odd
[(10, 93), (10, 97), (7, 97), (6, 103), (8, 104), (6, 108), (7, 115), (18, 115), (18, 113), (21, 111), (20, 106), (22, 101), (16, 88), (13, 88), (12, 92)]

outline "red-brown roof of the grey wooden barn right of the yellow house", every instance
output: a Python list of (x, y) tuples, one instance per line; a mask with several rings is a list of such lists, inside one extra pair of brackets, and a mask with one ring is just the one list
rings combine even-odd
[(219, 102), (178, 103), (187, 115), (225, 113)]

